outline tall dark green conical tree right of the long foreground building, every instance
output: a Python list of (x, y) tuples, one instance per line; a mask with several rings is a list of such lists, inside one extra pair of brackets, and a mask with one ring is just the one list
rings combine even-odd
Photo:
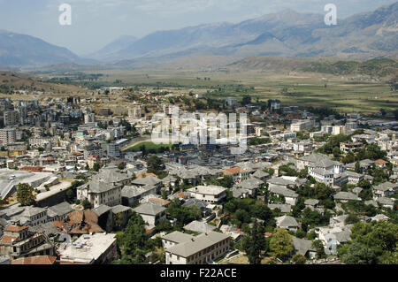
[(249, 235), (243, 238), (241, 246), (248, 255), (250, 264), (260, 264), (261, 251), (266, 248), (264, 227), (256, 221), (249, 230)]

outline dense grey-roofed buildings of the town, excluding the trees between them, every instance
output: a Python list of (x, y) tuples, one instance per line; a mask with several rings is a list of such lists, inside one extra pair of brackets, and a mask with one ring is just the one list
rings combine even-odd
[[(308, 178), (287, 176), (280, 170), (282, 166), (306, 170), (308, 177), (333, 188), (338, 207), (341, 202), (362, 201), (358, 184), (364, 179), (373, 183), (373, 177), (366, 171), (373, 167), (388, 170), (390, 178), (371, 187), (373, 198), (366, 204), (380, 210), (396, 208), (392, 198), (398, 189), (396, 123), (357, 114), (319, 120), (317, 115), (298, 107), (281, 107), (279, 101), (272, 101), (266, 111), (255, 105), (240, 107), (234, 97), (227, 98), (226, 105), (263, 120), (248, 120), (241, 127), (247, 130), (244, 141), (248, 146), (243, 154), (236, 154), (243, 139), (224, 142), (220, 126), (200, 123), (204, 127), (201, 129), (216, 132), (214, 140), (197, 144), (187, 139), (163, 152), (123, 152), (132, 135), (122, 120), (134, 126), (136, 135), (152, 133), (159, 125), (181, 129), (179, 115), (184, 111), (176, 114), (170, 104), (159, 106), (163, 115), (158, 118), (139, 105), (130, 108), (126, 118), (120, 118), (113, 117), (107, 108), (94, 112), (75, 99), (0, 99), (0, 200), (4, 203), (0, 208), (0, 258), (5, 257), (3, 262), (9, 263), (110, 263), (118, 258), (118, 251), (115, 235), (107, 232), (123, 228), (131, 213), (137, 213), (150, 236), (161, 236), (165, 263), (213, 263), (232, 254), (231, 241), (240, 240), (243, 235), (233, 225), (217, 226), (220, 232), (210, 225), (211, 220), (222, 217), (228, 191), (235, 199), (256, 198), (265, 201), (271, 210), (279, 209), (283, 216), (275, 218), (277, 227), (290, 232), (300, 228), (300, 218), (292, 217), (291, 211), (298, 202), (297, 190), (306, 185)], [(102, 116), (101, 120), (97, 121), (96, 116)], [(365, 124), (368, 129), (356, 134)], [(238, 127), (233, 122), (227, 126)], [(167, 127), (167, 133), (170, 128)], [(307, 138), (299, 138), (302, 134)], [(374, 143), (387, 156), (342, 164), (333, 156), (315, 152), (325, 145), (327, 136), (341, 134), (352, 135), (352, 141), (341, 142), (341, 154)], [(250, 145), (252, 140), (263, 139), (268, 141)], [(166, 177), (148, 171), (148, 157), (153, 155), (165, 164)], [(82, 176), (86, 181), (68, 199), (65, 192), (73, 182), (70, 179)], [(233, 180), (232, 187), (210, 184), (226, 177)], [(36, 206), (21, 207), (12, 202), (20, 183), (34, 187)], [(356, 188), (342, 191), (347, 185)], [(181, 191), (180, 187), (186, 188)], [(167, 213), (173, 199), (201, 211), (202, 221), (184, 226), (185, 230), (199, 233), (197, 236), (157, 232), (160, 221), (175, 223)], [(83, 202), (91, 209), (84, 209)], [(327, 210), (319, 205), (318, 199), (307, 199), (305, 205), (319, 213)], [(347, 215), (329, 212), (333, 213), (330, 225), (319, 226), (315, 232), (333, 253), (330, 239), (333, 237), (335, 245), (347, 242), (351, 226), (344, 223)], [(388, 218), (379, 213), (377, 217), (363, 219)], [(59, 244), (55, 238), (65, 234), (73, 240)], [(294, 245), (302, 255), (315, 254), (308, 240), (294, 238)]]

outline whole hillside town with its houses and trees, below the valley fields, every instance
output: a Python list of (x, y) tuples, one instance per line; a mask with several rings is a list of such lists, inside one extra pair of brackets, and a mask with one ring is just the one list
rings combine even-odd
[(398, 263), (392, 112), (154, 89), (0, 98), (0, 263)]

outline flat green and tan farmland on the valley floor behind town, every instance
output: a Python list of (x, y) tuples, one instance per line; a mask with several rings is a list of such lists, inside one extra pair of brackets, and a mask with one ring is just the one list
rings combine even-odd
[[(387, 81), (366, 77), (319, 73), (198, 72), (198, 71), (109, 71), (100, 80), (119, 78), (128, 85), (172, 88), (188, 94), (210, 93), (215, 99), (250, 95), (252, 101), (279, 99), (282, 105), (335, 108), (337, 111), (378, 112), (398, 108), (398, 92)], [(210, 80), (204, 80), (210, 78)]]

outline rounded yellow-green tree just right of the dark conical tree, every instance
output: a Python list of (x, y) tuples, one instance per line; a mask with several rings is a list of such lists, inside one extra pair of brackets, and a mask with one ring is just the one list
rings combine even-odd
[(284, 261), (293, 251), (292, 236), (285, 229), (275, 228), (270, 240), (271, 254)]

